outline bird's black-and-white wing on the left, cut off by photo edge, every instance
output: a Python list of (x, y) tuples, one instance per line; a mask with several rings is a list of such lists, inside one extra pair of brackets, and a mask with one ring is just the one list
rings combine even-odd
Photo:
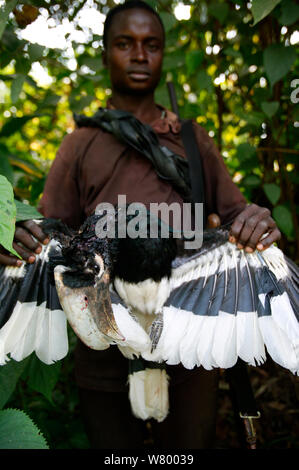
[(68, 352), (66, 317), (48, 266), (49, 256), (57, 250), (53, 239), (35, 263), (0, 266), (0, 365), (9, 356), (21, 361), (33, 351), (52, 364)]

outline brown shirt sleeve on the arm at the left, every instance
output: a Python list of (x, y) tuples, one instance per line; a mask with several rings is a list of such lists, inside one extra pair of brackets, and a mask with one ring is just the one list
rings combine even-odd
[(77, 183), (77, 131), (66, 135), (47, 176), (39, 211), (45, 217), (60, 219), (70, 227), (82, 223), (80, 194)]

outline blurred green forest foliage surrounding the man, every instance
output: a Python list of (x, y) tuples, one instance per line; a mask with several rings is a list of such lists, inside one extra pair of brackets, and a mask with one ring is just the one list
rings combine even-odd
[[(73, 113), (91, 115), (105, 106), (111, 89), (101, 62), (102, 24), (117, 3), (0, 0), (0, 175), (17, 201), (37, 206), (56, 151), (74, 129)], [(207, 130), (233, 181), (248, 202), (271, 209), (282, 232), (280, 248), (298, 261), (297, 2), (148, 3), (167, 32), (156, 101), (170, 107), (171, 80), (180, 117)], [(74, 344), (70, 331), (68, 357), (51, 366), (32, 355), (0, 368), (0, 448), (17, 445), (5, 441), (8, 416), (12, 430), (29, 416), (27, 424), (45, 438), (35, 444), (19, 439), (18, 445), (88, 448), (73, 378)], [(259, 446), (298, 448), (298, 381), (271, 361), (250, 374), (262, 411)], [(238, 448), (243, 441), (224, 374), (219, 400), (217, 445)]]

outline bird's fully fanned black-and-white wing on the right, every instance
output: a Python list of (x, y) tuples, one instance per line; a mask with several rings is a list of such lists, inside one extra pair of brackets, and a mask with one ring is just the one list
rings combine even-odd
[(299, 373), (298, 267), (274, 246), (247, 254), (219, 238), (219, 246), (174, 261), (162, 332), (143, 357), (229, 368), (238, 357), (261, 364), (267, 349)]

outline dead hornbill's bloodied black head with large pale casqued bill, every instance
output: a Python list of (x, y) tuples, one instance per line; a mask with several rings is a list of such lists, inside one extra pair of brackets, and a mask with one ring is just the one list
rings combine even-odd
[[(61, 306), (74, 331), (94, 349), (125, 340), (111, 305), (111, 257), (107, 240), (97, 238), (97, 217), (89, 217), (77, 233), (56, 237), (61, 253), (50, 256)], [(78, 331), (80, 330), (80, 331)]]

